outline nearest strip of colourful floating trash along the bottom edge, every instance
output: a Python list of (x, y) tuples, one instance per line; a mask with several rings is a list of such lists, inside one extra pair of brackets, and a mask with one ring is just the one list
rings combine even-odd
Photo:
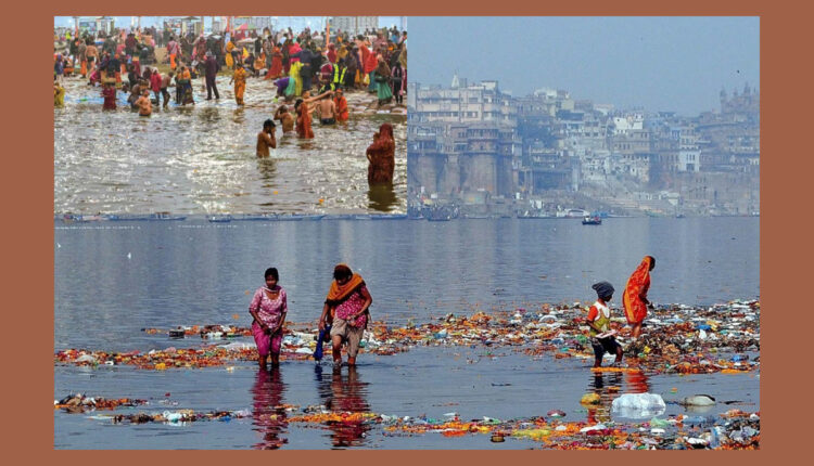
[[(78, 397), (79, 401), (76, 400)], [(621, 397), (620, 397), (621, 398)], [(103, 400), (84, 396), (68, 396), (63, 401), (82, 404), (82, 400)], [(122, 399), (128, 400), (128, 399)], [(143, 401), (143, 400), (142, 400)], [(111, 409), (130, 406), (120, 403)], [(325, 406), (274, 406), (275, 422), (281, 427), (301, 425), (309, 428), (335, 429), (336, 426), (369, 426), (383, 436), (432, 435), (445, 438), (463, 436), (488, 436), (492, 442), (507, 440), (531, 441), (543, 449), (558, 450), (754, 450), (760, 448), (760, 413), (732, 410), (716, 417), (692, 417), (674, 415), (667, 418), (600, 424), (587, 422), (563, 422), (549, 415), (500, 420), (488, 416), (463, 420), (457, 413), (435, 419), (420, 416), (386, 415), (370, 412), (328, 411)], [(65, 410), (76, 414), (82, 411)], [(550, 414), (550, 413), (549, 413)], [(267, 416), (267, 414), (264, 414)], [(254, 417), (250, 410), (195, 412), (175, 410), (140, 412), (132, 414), (92, 415), (96, 420), (113, 424), (160, 423), (183, 426), (194, 422), (242, 419)], [(268, 419), (265, 419), (268, 420)], [(370, 433), (374, 433), (371, 430)]]

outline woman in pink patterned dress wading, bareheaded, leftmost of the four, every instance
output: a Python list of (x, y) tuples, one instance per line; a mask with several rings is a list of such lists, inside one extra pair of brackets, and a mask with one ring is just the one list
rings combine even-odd
[(280, 365), (280, 345), (282, 344), (282, 324), (289, 311), (285, 290), (277, 282), (280, 275), (274, 267), (266, 270), (266, 286), (254, 292), (249, 313), (252, 314), (252, 335), (257, 344), (259, 365), (266, 367), (266, 361), (271, 354), (271, 366)]

